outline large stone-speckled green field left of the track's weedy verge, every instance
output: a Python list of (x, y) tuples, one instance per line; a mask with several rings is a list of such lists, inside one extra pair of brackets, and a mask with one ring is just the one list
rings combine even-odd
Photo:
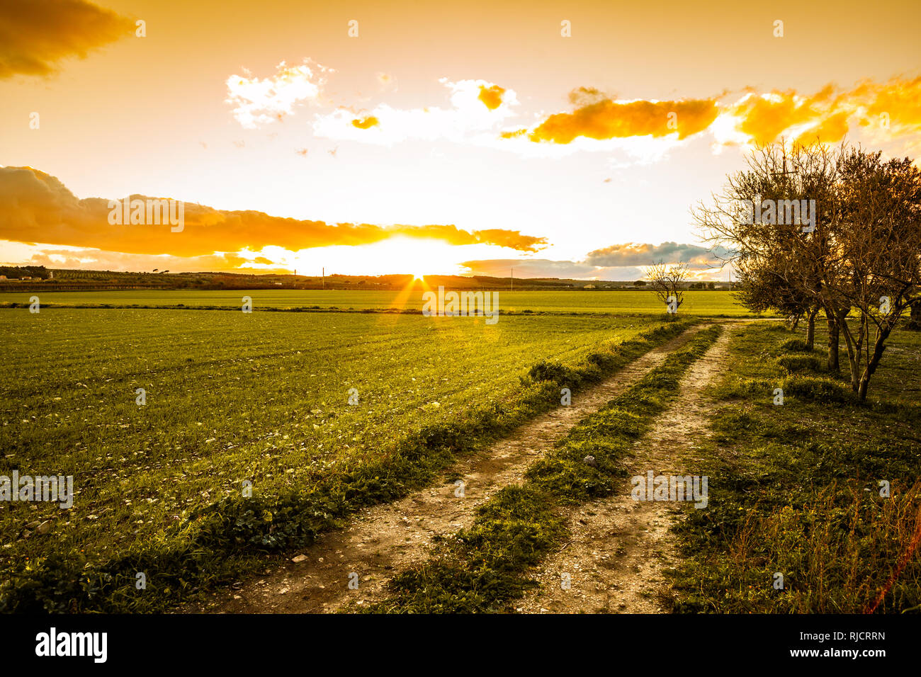
[(70, 510), (0, 508), (5, 568), (169, 548), (187, 518), (246, 480), (256, 498), (309, 493), (473, 410), (520, 417), (535, 363), (575, 368), (659, 324), (165, 309), (4, 309), (0, 322), (0, 474), (73, 475), (76, 490)]

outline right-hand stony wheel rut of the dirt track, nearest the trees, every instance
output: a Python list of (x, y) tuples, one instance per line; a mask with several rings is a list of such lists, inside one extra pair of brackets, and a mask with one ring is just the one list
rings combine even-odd
[[(682, 379), (681, 391), (635, 446), (631, 475), (700, 474), (694, 449), (705, 438), (704, 390), (719, 373), (729, 344), (727, 326)], [(541, 583), (516, 604), (521, 613), (659, 613), (663, 570), (673, 565), (670, 502), (635, 501), (631, 484), (617, 496), (568, 511), (569, 543), (535, 577)], [(568, 589), (564, 587), (564, 575)]]

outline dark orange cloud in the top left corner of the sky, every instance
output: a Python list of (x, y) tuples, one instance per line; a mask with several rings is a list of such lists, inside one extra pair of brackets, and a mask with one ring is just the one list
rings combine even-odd
[(0, 79), (51, 76), (65, 58), (87, 57), (134, 32), (134, 21), (86, 0), (4, 2), (0, 11)]

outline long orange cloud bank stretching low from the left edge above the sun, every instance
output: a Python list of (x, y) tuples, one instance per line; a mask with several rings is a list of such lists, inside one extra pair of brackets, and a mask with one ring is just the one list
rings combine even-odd
[[(130, 197), (148, 199), (143, 195)], [(79, 200), (61, 181), (37, 169), (0, 168), (0, 239), (16, 242), (183, 257), (215, 251), (260, 251), (272, 245), (289, 250), (354, 246), (401, 235), (439, 239), (455, 245), (498, 245), (518, 251), (539, 251), (546, 245), (545, 238), (522, 235), (517, 230), (468, 231), (452, 225), (327, 224), (257, 211), (225, 211), (193, 203), (184, 203), (183, 210), (181, 232), (171, 231), (169, 223), (112, 225), (109, 200)]]

